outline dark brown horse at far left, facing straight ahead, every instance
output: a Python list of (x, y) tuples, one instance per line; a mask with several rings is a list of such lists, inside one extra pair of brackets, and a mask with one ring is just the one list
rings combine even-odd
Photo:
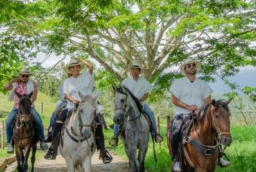
[(13, 140), (15, 142), (17, 170), (19, 172), (26, 172), (28, 170), (28, 156), (32, 148), (31, 171), (33, 172), (37, 142), (39, 142), (39, 136), (31, 112), (32, 103), (30, 98), (33, 95), (33, 92), (24, 96), (21, 96), (17, 92), (16, 94), (19, 97), (19, 111), (15, 119)]

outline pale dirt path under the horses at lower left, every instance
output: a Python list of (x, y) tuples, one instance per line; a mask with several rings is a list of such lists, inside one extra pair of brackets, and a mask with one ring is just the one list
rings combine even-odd
[[(102, 160), (99, 160), (99, 152), (95, 152), (92, 158), (92, 172), (128, 172), (129, 165), (127, 160), (124, 160), (118, 155), (114, 155), (113, 152), (110, 152), (113, 156), (113, 161), (109, 164), (103, 164)], [(16, 168), (16, 162), (8, 166), (6, 172), (14, 171)], [(66, 170), (66, 162), (61, 155), (57, 156), (56, 160), (42, 160), (35, 162), (35, 171), (36, 172), (60, 172)]]

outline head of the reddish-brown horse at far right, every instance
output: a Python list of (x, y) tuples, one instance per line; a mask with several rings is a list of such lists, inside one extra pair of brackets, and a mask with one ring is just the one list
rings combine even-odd
[(223, 102), (221, 100), (212, 100), (212, 123), (213, 128), (219, 134), (219, 139), (224, 146), (230, 146), (232, 136), (230, 133), (230, 111), (228, 104), (232, 99)]

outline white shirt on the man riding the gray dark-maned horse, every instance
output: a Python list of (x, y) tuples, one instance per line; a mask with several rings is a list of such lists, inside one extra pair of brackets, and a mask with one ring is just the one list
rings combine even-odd
[(122, 86), (127, 87), (136, 98), (140, 99), (144, 94), (149, 93), (153, 86), (143, 77), (138, 77), (138, 80), (134, 80), (132, 76), (122, 80)]

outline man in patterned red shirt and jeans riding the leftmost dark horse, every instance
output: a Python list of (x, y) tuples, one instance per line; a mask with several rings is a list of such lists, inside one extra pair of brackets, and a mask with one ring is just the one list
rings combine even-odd
[(28, 68), (21, 69), (21, 72), (19, 72), (20, 77), (10, 80), (9, 83), (5, 85), (3, 88), (6, 91), (11, 91), (10, 96), (8, 100), (15, 101), (15, 105), (8, 115), (8, 118), (6, 120), (6, 135), (7, 135), (7, 142), (8, 142), (8, 149), (7, 153), (13, 153), (13, 145), (11, 142), (12, 138), (12, 122), (15, 120), (15, 116), (17, 114), (18, 108), (19, 108), (19, 98), (15, 96), (15, 92), (21, 94), (21, 95), (28, 95), (31, 92), (33, 92), (33, 96), (30, 98), (32, 105), (32, 114), (35, 118), (35, 122), (37, 123), (37, 129), (39, 136), (41, 138), (40, 147), (42, 150), (48, 149), (48, 146), (46, 142), (44, 142), (44, 127), (43, 122), (37, 111), (35, 110), (34, 102), (37, 100), (37, 83), (35, 81), (30, 80), (29, 77), (32, 75)]

